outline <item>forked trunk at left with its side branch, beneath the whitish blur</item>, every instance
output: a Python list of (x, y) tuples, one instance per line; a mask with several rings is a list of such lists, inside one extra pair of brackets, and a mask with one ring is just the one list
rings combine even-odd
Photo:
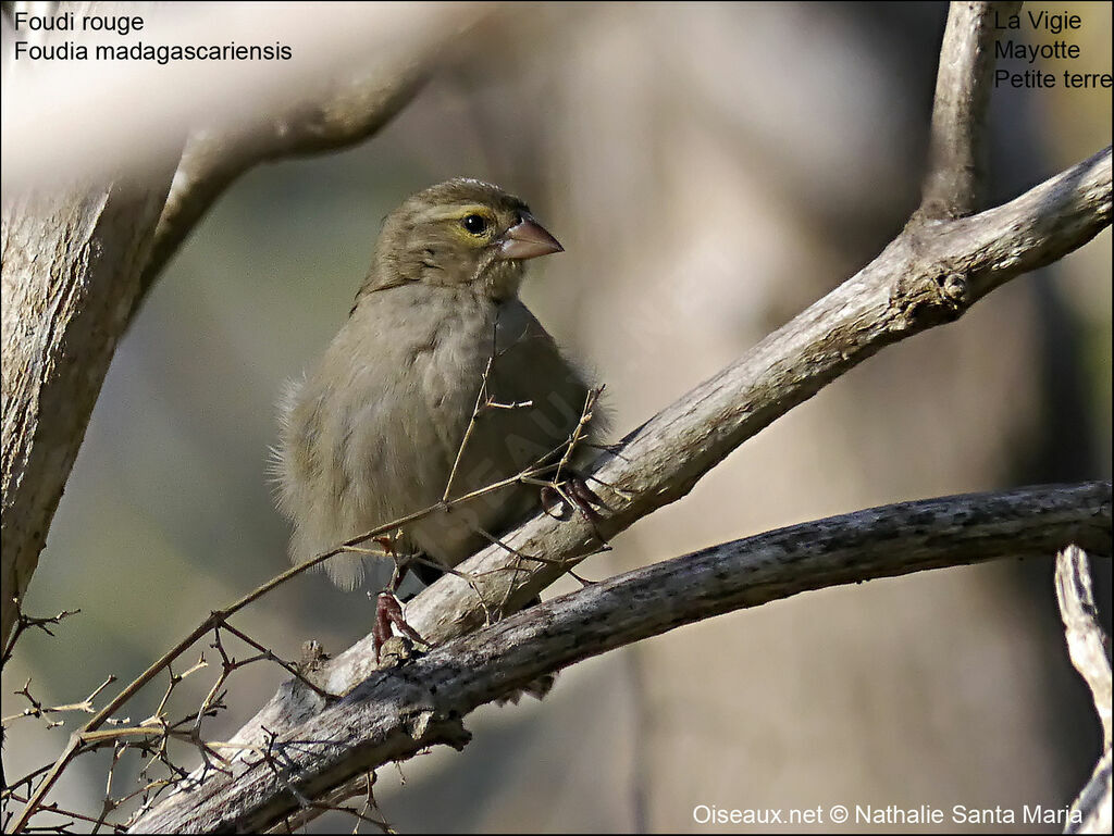
[[(63, 3), (58, 12), (74, 8)], [(53, 190), (38, 180), (27, 180), (26, 173), (23, 181), (17, 178), (19, 194), (6, 193), (2, 228), (0, 581), (4, 593), (0, 600), (0, 638), (7, 637), (16, 622), (16, 599), (23, 597), (35, 572), (116, 344), (143, 296), (204, 213), (236, 177), (260, 161), (352, 145), (374, 134), (417, 94), (447, 45), (496, 8), (444, 3), (423, 12), (403, 10), (398, 14), (388, 10), (383, 12), (390, 17), (387, 33), (394, 36), (389, 43), (377, 42), (378, 49), (361, 55), (354, 68), (345, 65), (340, 78), (329, 72), (329, 61), (317, 56), (319, 60), (311, 61), (314, 72), (302, 87), (285, 89), (281, 98), (274, 90), (255, 90), (262, 104), (274, 104), (260, 108), (262, 115), (257, 118), (251, 117), (254, 110), (242, 104), (234, 108), (221, 102), (223, 107), (203, 112), (215, 111), (223, 121), (197, 125), (196, 112), (174, 110), (176, 97), (158, 98), (158, 106), (169, 112), (165, 121), (172, 127), (180, 121), (182, 137), (189, 132), (188, 140), (172, 142), (173, 158), (180, 157), (177, 171), (175, 163), (166, 159), (159, 165), (138, 166), (145, 174), (127, 183), (114, 181), (115, 175), (97, 181), (84, 177)], [(98, 7), (81, 11), (96, 13)], [(283, 17), (297, 13), (305, 14), (295, 10)], [(352, 20), (348, 14), (342, 19)], [(7, 35), (7, 17), (3, 22)], [(370, 26), (369, 21), (363, 26)], [(67, 35), (47, 32), (43, 38)], [(352, 33), (346, 32), (345, 38), (351, 40)], [(11, 57), (13, 41), (13, 33), (4, 39), (4, 60)], [(178, 80), (183, 78), (178, 76)], [(152, 102), (141, 99), (146, 88), (136, 85), (134, 77), (113, 77), (110, 81), (97, 92), (114, 106), (119, 102), (109, 94), (134, 99), (137, 111), (146, 114), (150, 109)], [(33, 73), (4, 73), (6, 97), (28, 94), (25, 86), (41, 83)], [(35, 87), (32, 92), (37, 91), (40, 99), (57, 96), (69, 101), (66, 97), (75, 95), (74, 87), (59, 83), (57, 89)], [(197, 95), (198, 87), (190, 88), (192, 95)], [(91, 99), (96, 101), (96, 97)], [(27, 105), (28, 95), (22, 101)], [(52, 141), (56, 136), (68, 136), (81, 128), (67, 122), (67, 109), (51, 101), (61, 116), (51, 112), (50, 128), (43, 131), (41, 118), (33, 118), (36, 112), (21, 110), (18, 116), (26, 130), (46, 132)], [(229, 118), (231, 110), (240, 118)], [(115, 121), (104, 118), (97, 129), (105, 130), (105, 122), (109, 130), (119, 129)], [(10, 127), (6, 116), (4, 154), (27, 153), (27, 142), (18, 141), (21, 137), (26, 140), (20, 130), (13, 129), (17, 141), (8, 141)], [(9, 151), (9, 145), (16, 150)], [(158, 142), (153, 146), (162, 149)], [(119, 147), (131, 148), (123, 140)], [(148, 157), (155, 155), (155, 150), (145, 151)], [(74, 165), (74, 155), (67, 155), (67, 165)], [(23, 160), (16, 157), (12, 161)], [(120, 164), (121, 170), (126, 167)]]

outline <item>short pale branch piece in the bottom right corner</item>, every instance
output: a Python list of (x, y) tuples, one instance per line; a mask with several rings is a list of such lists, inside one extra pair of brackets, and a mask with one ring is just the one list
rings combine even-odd
[(1071, 545), (1056, 555), (1056, 600), (1072, 663), (1091, 689), (1103, 727), (1103, 754), (1072, 805), (1066, 833), (1111, 832), (1111, 643), (1098, 626), (1087, 555)]

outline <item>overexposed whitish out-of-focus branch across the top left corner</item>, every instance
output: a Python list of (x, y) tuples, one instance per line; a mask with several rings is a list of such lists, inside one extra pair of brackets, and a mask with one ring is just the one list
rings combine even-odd
[[(22, 8), (43, 14), (51, 12), (51, 6)], [(177, 160), (182, 140), (199, 130), (235, 144), (258, 131), (258, 141), (248, 144), (280, 155), (292, 150), (280, 138), (286, 131), (293, 146), (312, 144), (309, 135), (316, 129), (323, 129), (325, 142), (332, 141), (325, 135), (343, 134), (342, 122), (349, 124), (352, 135), (361, 134), (360, 107), (378, 107), (383, 94), (390, 98), (389, 90), (397, 89), (394, 76), (420, 72), (421, 65), (441, 60), (456, 45), (475, 48), (483, 40), (476, 37), (476, 24), (499, 8), (443, 0), (262, 8), (229, 2), (214, 18), (174, 3), (116, 6), (113, 12), (139, 12), (145, 32), (173, 33), (178, 45), (208, 45), (218, 35), (221, 41), (242, 46), (271, 41), (274, 51), (262, 60), (229, 66), (223, 58), (212, 60), (213, 53), (206, 53), (206, 60), (189, 60), (168, 48), (154, 56), (159, 61), (157, 72), (143, 71), (131, 61), (94, 60), (80, 72), (68, 61), (12, 61), (6, 78), (18, 78), (18, 83), (4, 91), (4, 193), (98, 178), (121, 168), (137, 171), (167, 154)], [(57, 11), (81, 16), (97, 9), (71, 2)], [(8, 37), (11, 27), (4, 32)], [(17, 37), (42, 35), (43, 30), (28, 30), (25, 23)], [(106, 43), (96, 33), (66, 35), (90, 51)], [(369, 88), (361, 90), (362, 83)], [(316, 125), (303, 127), (299, 124), (303, 120)], [(82, 138), (77, 146), (75, 134)]]

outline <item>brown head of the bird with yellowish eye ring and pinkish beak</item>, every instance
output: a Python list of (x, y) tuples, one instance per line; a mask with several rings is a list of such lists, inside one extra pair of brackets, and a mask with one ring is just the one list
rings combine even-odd
[(421, 282), (470, 286), (501, 301), (518, 293), (526, 259), (563, 249), (520, 199), (457, 178), (419, 191), (387, 217), (362, 292)]

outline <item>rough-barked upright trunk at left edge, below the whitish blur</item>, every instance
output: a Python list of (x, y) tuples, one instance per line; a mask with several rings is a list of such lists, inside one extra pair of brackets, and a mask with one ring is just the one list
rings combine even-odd
[(16, 622), (14, 599), (130, 316), (172, 171), (4, 203), (0, 637)]

